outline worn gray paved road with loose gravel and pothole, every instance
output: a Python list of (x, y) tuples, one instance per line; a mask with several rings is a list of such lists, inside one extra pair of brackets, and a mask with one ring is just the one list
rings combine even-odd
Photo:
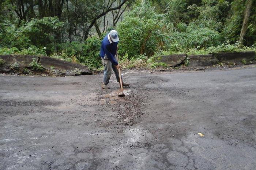
[(124, 77), (0, 76), (0, 169), (256, 169), (255, 67)]

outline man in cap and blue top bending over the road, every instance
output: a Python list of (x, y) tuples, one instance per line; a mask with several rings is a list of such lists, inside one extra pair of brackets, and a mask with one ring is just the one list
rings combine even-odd
[[(118, 74), (118, 68), (120, 68), (120, 65), (117, 62), (116, 58), (116, 52), (118, 49), (118, 33), (116, 30), (112, 30), (103, 38), (101, 42), (101, 52), (99, 55), (101, 56), (102, 62), (104, 64), (104, 76), (103, 76), (103, 82), (102, 82), (102, 89), (109, 89), (107, 86), (109, 84), (109, 79), (111, 76), (111, 71), (113, 69), (115, 75), (116, 75), (116, 80), (119, 82), (119, 74)], [(122, 77), (121, 77), (122, 78)], [(128, 83), (125, 83), (123, 81), (123, 86), (129, 86)], [(120, 84), (120, 82), (119, 82)]]

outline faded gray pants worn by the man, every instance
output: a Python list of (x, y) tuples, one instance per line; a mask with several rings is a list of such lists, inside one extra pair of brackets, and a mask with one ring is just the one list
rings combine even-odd
[[(116, 58), (116, 55), (114, 56)], [(103, 83), (105, 85), (109, 84), (109, 79), (111, 76), (112, 69), (116, 75), (116, 80), (119, 82), (119, 74), (118, 70), (116, 69), (116, 66), (112, 64), (111, 61), (109, 61), (108, 57), (105, 55), (105, 59), (101, 58), (102, 63), (104, 65), (104, 76), (103, 76)]]

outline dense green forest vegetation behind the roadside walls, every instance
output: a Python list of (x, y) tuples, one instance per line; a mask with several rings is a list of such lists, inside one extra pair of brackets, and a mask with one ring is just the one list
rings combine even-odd
[(158, 55), (256, 51), (256, 0), (1, 0), (0, 11), (0, 54), (91, 69), (102, 67), (101, 40), (112, 29), (125, 68), (165, 67)]

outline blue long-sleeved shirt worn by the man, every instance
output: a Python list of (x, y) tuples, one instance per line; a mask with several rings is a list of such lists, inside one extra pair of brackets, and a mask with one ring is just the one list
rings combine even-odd
[(114, 56), (116, 55), (118, 42), (113, 42), (110, 38), (108, 38), (108, 35), (109, 34), (107, 34), (101, 42), (101, 52), (99, 53), (99, 55), (101, 56), (101, 58), (104, 58), (106, 54), (109, 61), (111, 61), (113, 65), (118, 65), (116, 58), (114, 58)]

